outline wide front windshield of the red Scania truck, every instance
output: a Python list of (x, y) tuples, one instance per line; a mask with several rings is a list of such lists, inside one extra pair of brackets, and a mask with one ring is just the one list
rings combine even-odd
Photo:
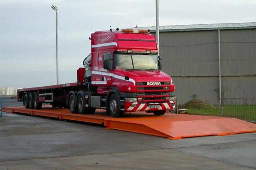
[(114, 54), (115, 68), (119, 70), (157, 70), (157, 55)]

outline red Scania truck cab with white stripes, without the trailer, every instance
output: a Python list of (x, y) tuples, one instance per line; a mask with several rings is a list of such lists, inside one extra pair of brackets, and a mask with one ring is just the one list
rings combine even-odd
[(160, 71), (162, 57), (148, 30), (95, 32), (91, 42), (91, 85), (97, 95), (106, 96), (110, 115), (135, 111), (163, 115), (174, 108), (174, 84)]

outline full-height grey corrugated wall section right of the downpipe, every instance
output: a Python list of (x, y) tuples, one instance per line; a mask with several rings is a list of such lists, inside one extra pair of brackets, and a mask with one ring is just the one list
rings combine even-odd
[(256, 98), (256, 29), (220, 30), (222, 97)]

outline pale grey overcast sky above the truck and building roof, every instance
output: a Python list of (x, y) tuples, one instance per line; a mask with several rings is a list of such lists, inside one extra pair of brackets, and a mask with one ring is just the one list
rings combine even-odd
[[(76, 82), (91, 33), (156, 24), (155, 0), (1, 0), (0, 87), (56, 84), (52, 4), (58, 7), (60, 84)], [(159, 24), (256, 22), (255, 9), (256, 0), (159, 0)]]

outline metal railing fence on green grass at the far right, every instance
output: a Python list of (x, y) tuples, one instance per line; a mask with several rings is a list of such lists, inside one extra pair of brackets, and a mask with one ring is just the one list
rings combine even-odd
[(256, 122), (256, 98), (220, 98), (220, 117)]

